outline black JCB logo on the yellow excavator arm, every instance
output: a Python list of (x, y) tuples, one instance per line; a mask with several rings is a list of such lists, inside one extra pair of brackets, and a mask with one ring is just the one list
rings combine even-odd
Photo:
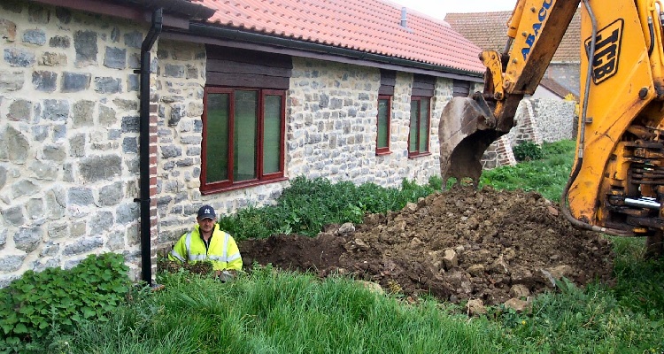
[[(622, 45), (623, 19), (599, 30), (595, 42), (595, 56), (592, 58), (592, 81), (598, 85), (618, 73), (618, 59)], [(586, 55), (591, 51), (591, 38), (585, 40)]]

